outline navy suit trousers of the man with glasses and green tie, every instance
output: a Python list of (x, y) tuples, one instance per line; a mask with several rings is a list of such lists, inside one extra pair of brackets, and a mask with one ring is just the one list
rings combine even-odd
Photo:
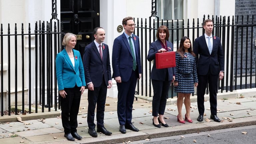
[(129, 81), (117, 84), (117, 116), (120, 125), (132, 123), (132, 105), (134, 101), (134, 92), (137, 84), (138, 68), (133, 71)]

